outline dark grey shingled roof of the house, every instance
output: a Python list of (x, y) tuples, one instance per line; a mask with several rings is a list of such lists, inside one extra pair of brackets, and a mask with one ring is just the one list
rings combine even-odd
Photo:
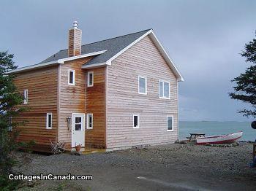
[[(143, 34), (146, 34), (151, 29), (147, 29), (145, 31), (140, 31), (133, 34), (127, 34), (124, 36), (118, 36), (112, 39), (106, 39), (99, 42), (94, 42), (90, 44), (85, 44), (82, 46), (82, 52), (81, 54), (88, 54), (91, 52), (98, 52), (102, 50), (107, 50), (106, 52), (102, 53), (101, 55), (97, 55), (94, 58), (91, 59), (87, 65), (91, 65), (94, 63), (103, 63), (108, 61), (110, 58), (112, 58), (114, 55), (116, 55), (118, 52), (123, 50), (125, 47), (127, 47), (132, 42), (135, 42), (136, 39), (140, 38), (140, 36), (143, 36)], [(47, 63), (50, 61), (57, 61), (61, 58), (67, 58), (67, 49), (66, 50), (60, 50), (56, 54), (50, 56), (49, 58), (45, 59), (45, 61), (42, 61), (41, 63)]]

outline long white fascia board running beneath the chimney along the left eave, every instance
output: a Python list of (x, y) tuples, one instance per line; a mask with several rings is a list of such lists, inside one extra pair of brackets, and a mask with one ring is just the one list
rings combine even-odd
[(31, 66), (25, 66), (25, 67), (22, 67), (20, 69), (15, 69), (15, 70), (9, 71), (9, 72), (7, 72), (7, 74), (15, 74), (15, 73), (18, 73), (20, 71), (27, 71), (27, 70), (31, 70), (31, 69), (42, 68), (42, 67), (45, 67), (45, 66), (51, 66), (51, 65), (55, 65), (55, 64), (59, 64), (59, 63), (64, 63), (66, 61), (72, 61), (72, 60), (76, 60), (76, 59), (79, 59), (79, 58), (86, 58), (86, 57), (89, 57), (89, 56), (92, 56), (92, 55), (100, 55), (100, 54), (102, 54), (106, 51), (107, 50), (102, 50), (102, 51), (98, 51), (98, 52), (91, 52), (91, 53), (84, 54), (84, 55), (76, 55), (76, 56), (72, 56), (72, 57), (68, 57), (68, 58), (62, 58), (62, 59), (59, 59), (57, 61), (50, 61), (50, 62), (47, 62), (47, 63), (37, 63), (37, 64), (31, 65)]

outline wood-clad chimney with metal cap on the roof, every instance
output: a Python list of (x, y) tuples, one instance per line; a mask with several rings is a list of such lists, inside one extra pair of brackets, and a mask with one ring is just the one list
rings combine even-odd
[(78, 29), (78, 21), (74, 21), (73, 28), (69, 29), (68, 55), (81, 55), (82, 31)]

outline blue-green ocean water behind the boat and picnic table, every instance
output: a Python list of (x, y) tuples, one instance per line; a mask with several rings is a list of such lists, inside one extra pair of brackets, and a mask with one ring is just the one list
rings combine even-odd
[(180, 121), (178, 129), (178, 139), (184, 140), (189, 133), (206, 133), (206, 136), (217, 136), (227, 133), (236, 133), (242, 130), (241, 141), (255, 141), (256, 129), (251, 127), (251, 122), (217, 122), (217, 121)]

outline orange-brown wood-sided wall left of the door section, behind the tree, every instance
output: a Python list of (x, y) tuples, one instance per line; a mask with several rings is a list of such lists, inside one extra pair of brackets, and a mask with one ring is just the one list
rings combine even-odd
[[(43, 149), (45, 145), (50, 145), (50, 139), (55, 140), (58, 130), (57, 79), (58, 66), (16, 74), (14, 83), (18, 91), (22, 94), (25, 89), (29, 91), (29, 102), (22, 106), (30, 108), (13, 119), (28, 121), (17, 128), (20, 131), (19, 141), (34, 140)], [(52, 129), (46, 129), (46, 113), (53, 114)]]

